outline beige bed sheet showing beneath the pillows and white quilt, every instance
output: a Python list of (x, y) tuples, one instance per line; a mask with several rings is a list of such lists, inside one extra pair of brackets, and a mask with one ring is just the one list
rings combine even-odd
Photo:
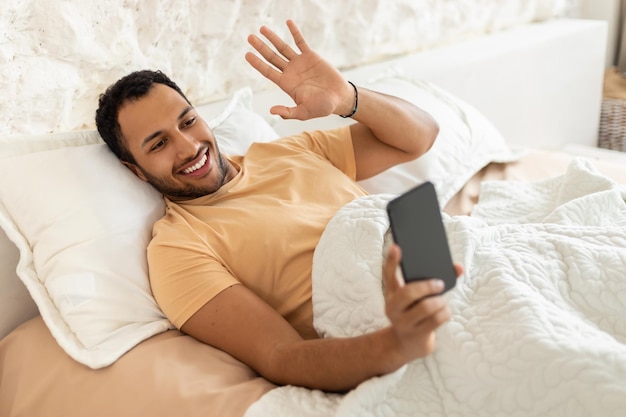
[[(533, 151), (491, 164), (445, 207), (469, 214), (484, 180), (534, 181), (565, 173), (571, 155)], [(626, 167), (598, 162), (626, 184)], [(91, 370), (67, 356), (40, 317), (0, 341), (0, 417), (237, 417), (274, 385), (231, 356), (179, 331), (154, 336), (112, 366)]]

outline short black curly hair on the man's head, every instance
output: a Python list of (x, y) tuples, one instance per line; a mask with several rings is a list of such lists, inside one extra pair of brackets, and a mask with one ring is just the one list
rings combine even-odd
[[(187, 103), (189, 100), (167, 75), (161, 71), (141, 70), (132, 72), (109, 86), (100, 95), (96, 110), (98, 133), (111, 151), (122, 161), (135, 163), (124, 142), (122, 129), (118, 121), (120, 107), (128, 101), (137, 100), (148, 94), (154, 84), (165, 84), (180, 94)], [(189, 103), (191, 105), (191, 103)]]

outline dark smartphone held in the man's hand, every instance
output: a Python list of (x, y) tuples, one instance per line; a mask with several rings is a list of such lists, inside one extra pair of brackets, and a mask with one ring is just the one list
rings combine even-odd
[(444, 292), (454, 287), (456, 270), (433, 183), (426, 181), (391, 200), (387, 215), (393, 240), (402, 250), (405, 282), (439, 278)]

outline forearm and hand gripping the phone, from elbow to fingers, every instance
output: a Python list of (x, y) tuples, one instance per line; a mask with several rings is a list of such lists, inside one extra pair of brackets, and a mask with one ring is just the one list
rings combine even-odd
[[(326, 391), (345, 391), (434, 351), (435, 330), (450, 319), (438, 279), (406, 285), (396, 276), (400, 249), (392, 245), (383, 266), (385, 314), (390, 326), (352, 338), (274, 344), (266, 377)], [(455, 266), (457, 276), (462, 268)], [(274, 373), (275, 372), (275, 373)]]

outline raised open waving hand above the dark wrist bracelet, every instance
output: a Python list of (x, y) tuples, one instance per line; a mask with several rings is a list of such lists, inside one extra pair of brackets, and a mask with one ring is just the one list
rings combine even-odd
[(273, 106), (272, 114), (285, 119), (307, 120), (329, 114), (349, 114), (354, 102), (354, 90), (341, 73), (313, 51), (298, 26), (287, 21), (287, 27), (299, 53), (266, 26), (260, 33), (273, 46), (256, 35), (248, 42), (265, 59), (248, 52), (246, 61), (265, 78), (278, 85), (295, 102), (294, 107)]

